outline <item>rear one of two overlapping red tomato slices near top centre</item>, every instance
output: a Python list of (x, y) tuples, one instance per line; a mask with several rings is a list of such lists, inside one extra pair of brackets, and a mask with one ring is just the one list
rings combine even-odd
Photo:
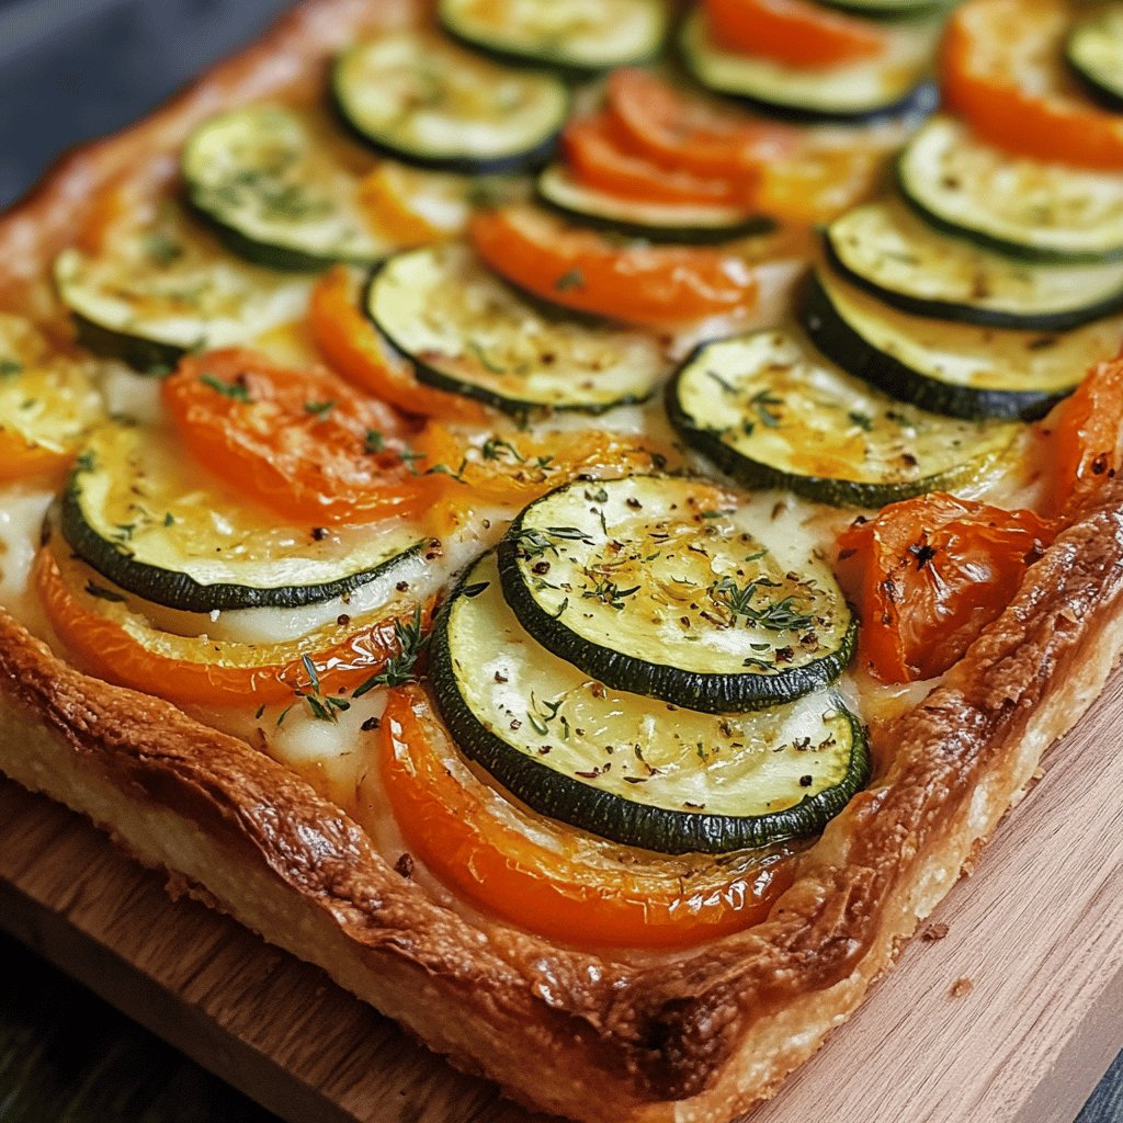
[(763, 168), (802, 145), (794, 129), (711, 104), (649, 71), (613, 71), (606, 106), (634, 152), (665, 168), (724, 176), (747, 190)]

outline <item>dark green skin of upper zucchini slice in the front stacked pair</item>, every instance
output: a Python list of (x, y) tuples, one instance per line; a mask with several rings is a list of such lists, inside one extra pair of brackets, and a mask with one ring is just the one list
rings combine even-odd
[(850, 615), (838, 646), (802, 666), (776, 674), (728, 674), (691, 670), (652, 663), (613, 650), (575, 632), (546, 611), (527, 585), (519, 556), (519, 540), (528, 517), (542, 500), (572, 485), (563, 485), (523, 510), (495, 550), (503, 595), (519, 623), (548, 651), (611, 686), (658, 699), (700, 713), (745, 713), (767, 710), (811, 694), (833, 683), (853, 656), (858, 624)]

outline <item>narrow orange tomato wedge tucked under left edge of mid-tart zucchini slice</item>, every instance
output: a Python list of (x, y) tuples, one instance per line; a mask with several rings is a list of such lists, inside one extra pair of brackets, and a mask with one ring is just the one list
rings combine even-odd
[(413, 365), (400, 355), (359, 311), (357, 286), (341, 266), (329, 270), (312, 290), (312, 338), (328, 365), (408, 413), (460, 421), (483, 421), (482, 407), (418, 382)]

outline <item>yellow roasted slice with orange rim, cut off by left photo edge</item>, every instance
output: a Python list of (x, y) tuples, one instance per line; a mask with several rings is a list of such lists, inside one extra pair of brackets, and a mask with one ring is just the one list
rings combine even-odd
[(0, 481), (64, 468), (106, 409), (89, 364), (0, 313)]

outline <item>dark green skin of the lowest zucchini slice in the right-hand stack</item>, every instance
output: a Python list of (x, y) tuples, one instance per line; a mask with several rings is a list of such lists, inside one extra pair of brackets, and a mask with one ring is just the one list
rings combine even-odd
[(946, 413), (967, 420), (996, 418), (1034, 421), (1043, 418), (1077, 385), (1074, 382), (1068, 390), (1047, 393), (1034, 390), (988, 390), (939, 382), (867, 343), (836, 311), (818, 276), (812, 276), (807, 283), (801, 320), (815, 346), (832, 362), (893, 398), (932, 413)]

